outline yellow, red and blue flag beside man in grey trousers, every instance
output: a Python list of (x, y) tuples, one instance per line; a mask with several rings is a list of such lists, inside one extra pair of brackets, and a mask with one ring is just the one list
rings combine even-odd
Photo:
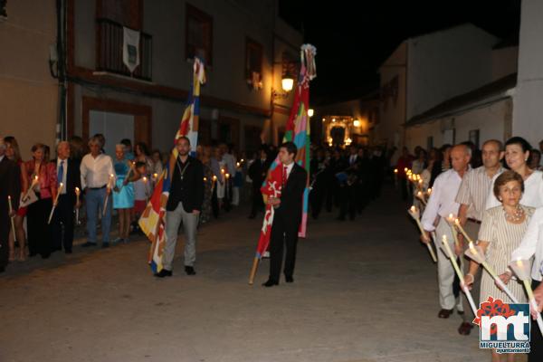
[[(200, 115), (200, 85), (205, 83), (204, 62), (195, 58), (193, 67), (193, 84), (189, 92), (186, 110), (176, 132), (177, 138), (187, 137), (193, 150), (196, 149), (198, 141), (198, 116)], [(193, 152), (194, 154), (194, 152)], [(160, 176), (153, 191), (153, 195), (148, 205), (139, 218), (139, 227), (145, 233), (151, 242), (151, 248), (148, 254), (148, 264), (153, 272), (162, 270), (162, 254), (166, 246), (166, 204), (169, 196), (170, 180), (173, 171), (172, 165), (178, 156), (177, 149), (174, 147), (167, 162), (166, 169)]]

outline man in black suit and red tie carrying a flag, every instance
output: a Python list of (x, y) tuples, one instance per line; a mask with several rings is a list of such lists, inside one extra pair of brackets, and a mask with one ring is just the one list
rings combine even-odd
[(270, 240), (270, 278), (263, 283), (264, 287), (279, 284), (283, 245), (286, 245), (285, 281), (294, 281), (294, 264), (296, 262), (296, 244), (298, 229), (301, 223), (303, 192), (308, 182), (308, 173), (294, 162), (298, 149), (292, 142), (285, 142), (279, 148), (279, 159), (282, 167), (281, 197), (270, 197), (268, 203), (275, 207), (273, 224), (271, 224)]

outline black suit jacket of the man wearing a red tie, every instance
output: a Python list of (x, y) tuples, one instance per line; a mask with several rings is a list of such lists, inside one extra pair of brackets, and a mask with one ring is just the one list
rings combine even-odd
[(286, 224), (301, 223), (302, 196), (307, 182), (308, 172), (294, 164), (287, 185), (281, 191), (281, 204), (275, 210), (274, 217), (282, 217)]

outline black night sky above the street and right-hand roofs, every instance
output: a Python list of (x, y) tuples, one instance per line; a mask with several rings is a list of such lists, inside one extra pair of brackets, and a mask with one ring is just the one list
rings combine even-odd
[(317, 47), (311, 99), (318, 104), (376, 90), (379, 64), (408, 37), (472, 23), (518, 39), (520, 0), (280, 0), (280, 14)]

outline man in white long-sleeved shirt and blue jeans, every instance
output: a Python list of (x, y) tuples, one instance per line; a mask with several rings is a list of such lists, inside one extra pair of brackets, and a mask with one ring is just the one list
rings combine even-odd
[[(115, 186), (115, 171), (111, 157), (101, 153), (102, 143), (100, 138), (90, 138), (90, 154), (85, 155), (81, 160), (81, 187), (85, 192), (87, 202), (87, 243), (83, 247), (96, 246), (96, 222), (98, 213), (103, 212), (106, 195), (111, 193)], [(111, 226), (111, 199), (108, 196), (106, 214), (101, 218), (102, 248), (110, 246)]]

